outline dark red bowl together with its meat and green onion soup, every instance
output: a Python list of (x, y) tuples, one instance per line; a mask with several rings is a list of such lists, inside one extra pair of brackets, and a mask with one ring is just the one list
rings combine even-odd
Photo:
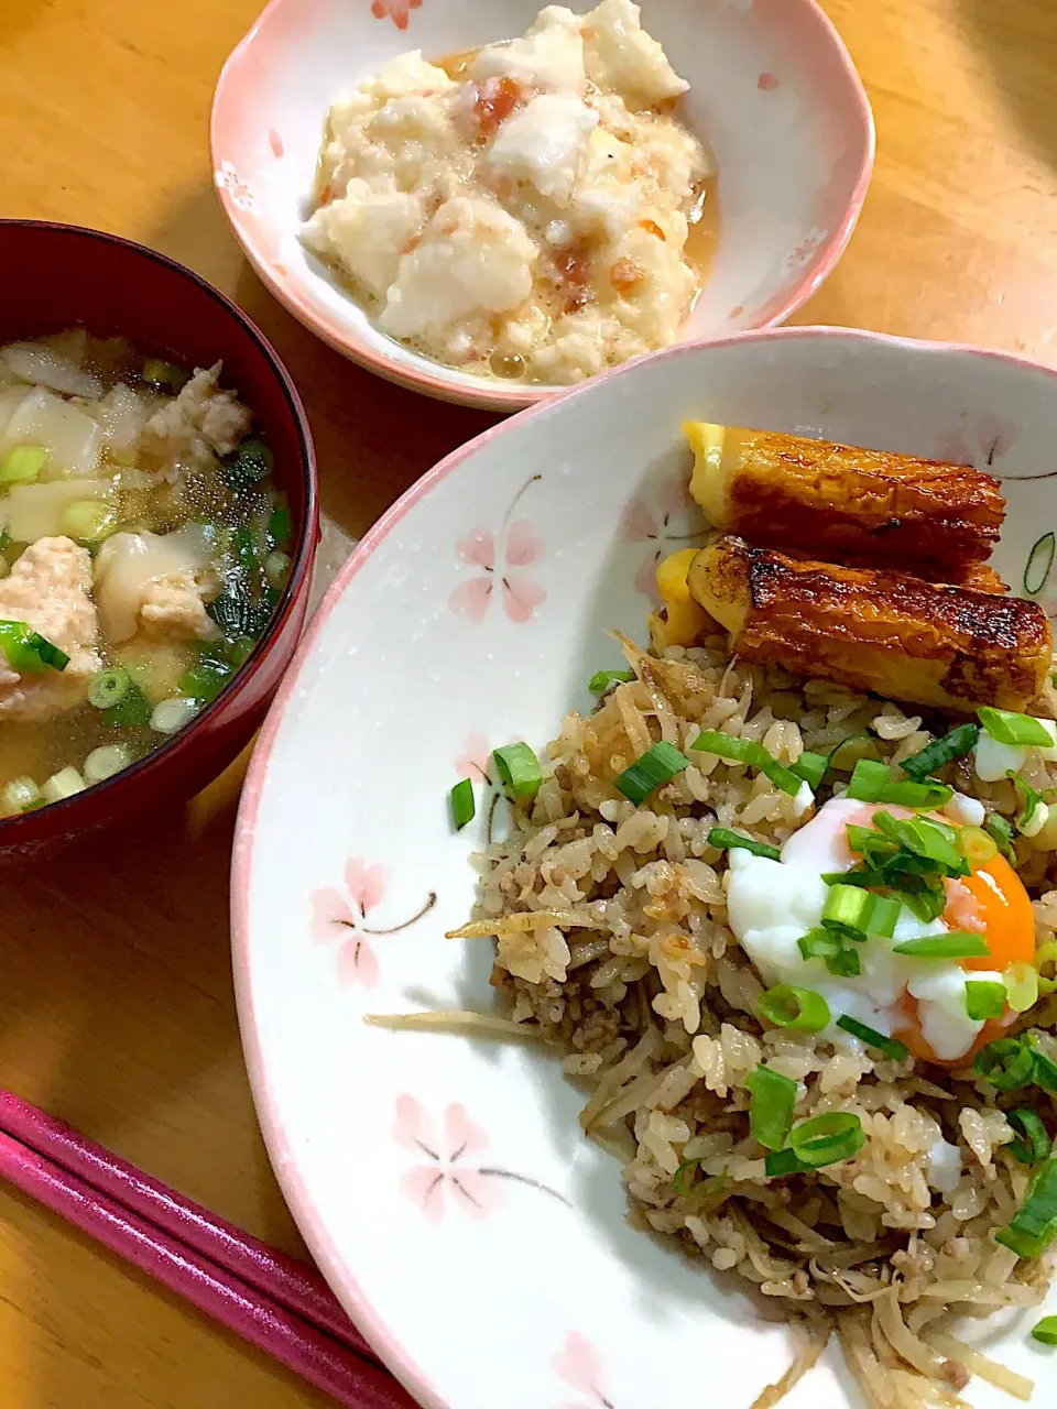
[(261, 723), (319, 540), (300, 397), (192, 271), (0, 220), (0, 851), (186, 799)]

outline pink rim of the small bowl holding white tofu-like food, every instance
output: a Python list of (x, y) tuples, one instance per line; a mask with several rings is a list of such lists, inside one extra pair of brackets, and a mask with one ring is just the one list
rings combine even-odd
[[(851, 199), (848, 201), (848, 209), (841, 223), (833, 230), (829, 238), (817, 247), (813, 256), (803, 268), (803, 276), (792, 286), (785, 299), (777, 307), (765, 307), (765, 318), (762, 318), (755, 328), (747, 331), (761, 331), (784, 323), (792, 313), (802, 307), (833, 273), (848, 245), (848, 241), (855, 232), (855, 225), (858, 224), (858, 217), (863, 213), (863, 204), (867, 199), (870, 182), (874, 175), (877, 130), (874, 124), (874, 113), (870, 107), (870, 99), (863, 87), (858, 69), (853, 63), (851, 55), (848, 54), (836, 25), (819, 4), (819, 0), (799, 0), (799, 3), (803, 7), (806, 23), (815, 25), (815, 44), (819, 46), (826, 45), (833, 51), (844, 79), (847, 80), (848, 90), (854, 94), (854, 116), (860, 124), (863, 159), (855, 178)], [(289, 4), (289, 0), (269, 0), (269, 4), (231, 51), (223, 69), (220, 70), (220, 77), (217, 79), (217, 87), (213, 96), (213, 111), (210, 114), (210, 154), (214, 170), (221, 169), (227, 151), (224, 132), (230, 118), (227, 111), (228, 104), (225, 103), (225, 90), (235, 86), (238, 69), (245, 61), (249, 46), (258, 39), (258, 37), (264, 38), (276, 21), (278, 11), (286, 4)], [(282, 25), (276, 25), (276, 39), (280, 37), (289, 37), (283, 32)], [(309, 331), (314, 333), (328, 347), (333, 347), (337, 352), (344, 354), (352, 362), (366, 368), (369, 372), (375, 372), (386, 380), (395, 382), (397, 386), (407, 387), (412, 392), (427, 392), (440, 400), (454, 402), (458, 406), (475, 406), (481, 410), (492, 411), (519, 411), (552, 396), (562, 396), (567, 390), (569, 390), (567, 387), (523, 387), (521, 390), (503, 390), (502, 387), (492, 387), (483, 380), (479, 386), (468, 386), (454, 382), (447, 376), (438, 376), (423, 368), (397, 361), (378, 348), (361, 344), (344, 331), (340, 324), (328, 320), (326, 313), (313, 309), (302, 296), (300, 290), (285, 276), (285, 272), (275, 268), (273, 261), (268, 258), (261, 240), (256, 235), (255, 221), (245, 218), (245, 213), (235, 204), (231, 197), (231, 192), (227, 187), (217, 187), (217, 199), (220, 200), (221, 209), (224, 210), (238, 242), (256, 271), (261, 282), (268, 287), (269, 293), (272, 293), (272, 296), (276, 297), (279, 303), (282, 303), (283, 307), (288, 309), (295, 318), (297, 318), (299, 323), (309, 328)], [(726, 337), (707, 338), (706, 341), (726, 341)], [(675, 345), (685, 347), (693, 344)]]

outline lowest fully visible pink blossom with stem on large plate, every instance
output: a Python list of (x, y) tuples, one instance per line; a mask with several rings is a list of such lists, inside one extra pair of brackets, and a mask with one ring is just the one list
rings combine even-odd
[(479, 1155), (488, 1148), (488, 1136), (465, 1106), (448, 1106), (437, 1124), (414, 1096), (397, 1096), (393, 1138), (420, 1160), (402, 1175), (400, 1192), (421, 1209), (428, 1223), (440, 1223), (448, 1209), (481, 1220), (502, 1208), (505, 1185), (510, 1182), (569, 1205), (564, 1193), (538, 1179), (485, 1167)]

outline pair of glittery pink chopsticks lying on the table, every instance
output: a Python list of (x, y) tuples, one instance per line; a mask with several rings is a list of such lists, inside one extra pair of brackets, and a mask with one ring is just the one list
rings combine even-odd
[(351, 1409), (414, 1409), (319, 1274), (0, 1089), (0, 1177)]

